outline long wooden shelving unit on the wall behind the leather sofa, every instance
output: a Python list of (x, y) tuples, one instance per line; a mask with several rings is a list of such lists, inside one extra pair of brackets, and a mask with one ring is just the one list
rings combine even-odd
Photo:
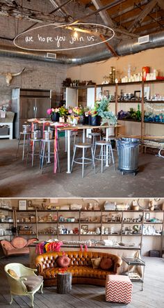
[[(123, 240), (123, 239), (125, 239), (124, 237), (127, 237), (127, 236), (133, 237), (133, 239), (138, 237), (139, 240), (140, 240), (141, 251), (142, 251), (142, 242), (143, 242), (144, 236), (151, 236), (151, 237), (153, 237), (153, 236), (157, 237), (158, 236), (160, 238), (161, 234), (155, 234), (155, 235), (143, 235), (143, 234), (140, 234), (140, 233), (124, 234), (124, 233), (122, 233), (122, 232), (124, 232), (124, 226), (126, 226), (126, 225), (127, 226), (129, 226), (129, 225), (133, 226), (135, 224), (138, 224), (138, 226), (140, 226), (141, 230), (142, 230), (141, 226), (143, 226), (144, 224), (145, 224), (145, 226), (149, 225), (149, 224), (151, 224), (151, 225), (156, 224), (156, 225), (163, 225), (164, 226), (163, 221), (162, 222), (144, 222), (144, 220), (142, 222), (124, 222), (123, 221), (123, 219), (125, 217), (128, 217), (130, 213), (131, 213), (131, 217), (136, 218), (136, 219), (138, 219), (139, 214), (141, 214), (141, 213), (142, 213), (143, 219), (145, 217), (145, 213), (152, 213), (151, 216), (156, 215), (156, 213), (161, 213), (161, 215), (163, 215), (163, 217), (160, 217), (160, 218), (161, 218), (161, 220), (164, 220), (164, 211), (163, 210), (153, 210), (153, 211), (151, 211), (149, 209), (143, 209), (143, 210), (142, 209), (140, 209), (140, 210), (104, 210), (104, 209), (103, 210), (83, 210), (83, 209), (81, 209), (81, 210), (36, 210), (36, 211), (35, 210), (32, 210), (32, 211), (31, 210), (28, 210), (28, 211), (23, 211), (23, 210), (19, 211), (18, 210), (18, 213), (19, 212), (21, 212), (21, 213), (27, 213), (27, 212), (33, 213), (33, 212), (35, 212), (36, 213), (36, 215), (35, 215), (36, 221), (38, 220), (38, 217), (39, 217), (38, 213), (40, 213), (40, 212), (41, 213), (47, 213), (47, 215), (49, 215), (50, 213), (56, 213), (57, 220), (54, 221), (54, 222), (38, 222), (38, 221), (37, 222), (25, 222), (24, 224), (28, 224), (28, 225), (31, 224), (32, 226), (35, 225), (35, 226), (33, 226), (33, 232), (35, 232), (35, 233), (26, 233), (26, 234), (25, 233), (18, 233), (18, 236), (29, 236), (29, 237), (35, 236), (35, 237), (40, 237), (40, 238), (41, 237), (44, 238), (45, 236), (47, 236), (47, 237), (51, 236), (51, 238), (54, 237), (54, 238), (58, 238), (58, 239), (61, 239), (61, 240), (64, 239), (64, 238), (67, 238), (67, 236), (68, 237), (74, 236), (78, 240), (81, 240), (81, 238), (83, 238), (83, 240), (85, 240), (85, 239), (87, 240), (87, 239), (92, 238), (92, 237), (95, 238), (95, 239), (97, 237), (97, 239), (103, 240), (107, 236), (109, 236), (109, 237), (115, 236), (115, 237), (117, 237), (116, 239), (119, 239), (120, 241), (124, 241)], [(14, 213), (15, 213), (16, 226), (23, 224), (22, 222), (17, 222), (17, 211), (15, 211)], [(78, 222), (77, 221), (76, 222), (59, 222), (58, 219), (59, 219), (60, 213), (63, 213), (63, 217), (71, 215), (71, 213), (77, 213), (77, 214), (74, 214), (74, 215), (76, 215), (76, 219), (78, 219)], [(64, 213), (67, 213), (67, 214), (64, 215)], [(85, 217), (85, 215), (84, 215), (84, 217), (82, 216), (83, 213), (86, 213), (86, 217)], [(95, 216), (97, 215), (97, 213), (99, 213), (97, 216), (99, 216), (100, 221), (99, 222), (88, 222), (88, 221), (82, 221), (81, 222), (81, 217), (83, 217), (82, 219), (92, 217), (91, 213)], [(120, 222), (112, 222), (112, 221), (102, 222), (102, 216), (103, 215), (107, 215), (107, 216), (108, 215), (115, 215), (116, 216), (118, 213), (120, 213), (120, 216), (121, 216)], [(71, 217), (71, 216), (69, 216), (69, 217)], [(67, 219), (67, 218), (68, 217), (65, 217), (65, 219)], [(8, 224), (8, 222), (6, 222), (6, 223)], [(10, 224), (13, 224), (13, 223), (10, 223)], [(102, 233), (96, 234), (96, 232), (94, 234), (81, 234), (81, 233), (78, 233), (78, 234), (74, 234), (74, 233), (59, 234), (59, 230), (57, 230), (56, 233), (40, 233), (40, 231), (42, 231), (42, 229), (39, 229), (39, 225), (42, 226), (44, 224), (48, 224), (50, 228), (51, 228), (51, 226), (53, 226), (53, 224), (55, 224), (56, 226), (65, 225), (67, 227), (69, 227), (71, 225), (72, 225), (72, 227), (78, 226), (79, 232), (81, 231), (81, 225), (83, 225), (83, 224), (86, 224), (87, 226), (90, 225), (90, 227), (88, 229), (92, 229), (91, 227), (93, 226), (94, 230), (92, 232), (95, 232), (95, 228), (97, 226), (99, 226), (99, 227), (105, 226), (105, 227), (109, 228), (111, 225), (115, 224), (115, 226), (119, 225), (118, 232), (120, 232), (120, 233), (116, 233), (117, 229), (115, 229), (115, 233), (111, 233), (111, 234), (109, 232), (108, 232), (108, 234), (102, 234)], [(50, 231), (50, 230), (51, 229), (49, 229), (48, 231)], [(121, 249), (121, 247), (120, 247), (120, 249)], [(124, 249), (124, 247), (123, 247), (123, 249)], [(133, 249), (133, 247), (132, 247), (132, 249)]]

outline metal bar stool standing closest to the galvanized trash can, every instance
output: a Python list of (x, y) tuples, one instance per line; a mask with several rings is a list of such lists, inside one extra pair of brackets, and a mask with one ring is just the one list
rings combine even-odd
[[(97, 146), (101, 146), (101, 150), (100, 150), (99, 155), (95, 155)], [(107, 149), (108, 149), (108, 151), (106, 151)], [(106, 156), (107, 153), (108, 153), (108, 156)], [(110, 141), (104, 141), (104, 140), (96, 141), (95, 142), (94, 159), (95, 160), (101, 160), (101, 173), (103, 173), (103, 171), (104, 171), (104, 161), (106, 162), (106, 160), (109, 160), (109, 163), (110, 163), (111, 157), (112, 157), (113, 166), (114, 166), (114, 170), (115, 170), (115, 160), (114, 160), (114, 157), (113, 157), (113, 148), (110, 144)]]

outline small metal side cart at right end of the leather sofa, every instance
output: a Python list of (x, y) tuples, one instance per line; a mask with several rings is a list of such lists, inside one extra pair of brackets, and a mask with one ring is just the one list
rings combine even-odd
[[(145, 262), (137, 257), (130, 258), (122, 256), (122, 260), (128, 265), (128, 277), (131, 279), (131, 282), (140, 282), (142, 284), (141, 291), (143, 291)], [(143, 266), (141, 270), (142, 275), (139, 273), (140, 271), (138, 271), (140, 266)]]

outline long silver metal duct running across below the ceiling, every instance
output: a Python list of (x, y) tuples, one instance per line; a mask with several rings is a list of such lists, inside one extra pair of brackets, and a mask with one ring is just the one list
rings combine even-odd
[[(116, 52), (119, 56), (125, 56), (128, 54), (136, 54), (137, 52), (142, 52), (146, 49), (152, 49), (156, 47), (163, 47), (164, 46), (164, 31), (160, 33), (151, 34), (149, 36), (149, 43), (145, 44), (138, 44), (138, 40), (130, 40), (126, 43), (120, 43), (117, 46)], [(101, 60), (110, 59), (113, 57), (113, 54), (104, 49), (103, 52), (99, 53), (90, 53), (89, 56), (82, 56), (79, 58), (69, 58), (62, 54), (57, 54), (56, 59), (49, 59), (46, 57), (44, 52), (32, 52), (32, 51), (19, 51), (13, 47), (5, 47), (0, 46), (0, 56), (12, 56), (12, 57), (19, 57), (24, 59), (33, 59), (38, 61), (49, 61), (54, 63), (63, 63), (63, 64), (71, 64), (71, 65), (81, 65), (85, 63), (91, 63)]]

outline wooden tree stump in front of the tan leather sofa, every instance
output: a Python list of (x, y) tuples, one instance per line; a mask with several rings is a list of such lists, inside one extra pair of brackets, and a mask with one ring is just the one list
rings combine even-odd
[(57, 293), (66, 294), (72, 291), (72, 274), (70, 272), (58, 272)]

